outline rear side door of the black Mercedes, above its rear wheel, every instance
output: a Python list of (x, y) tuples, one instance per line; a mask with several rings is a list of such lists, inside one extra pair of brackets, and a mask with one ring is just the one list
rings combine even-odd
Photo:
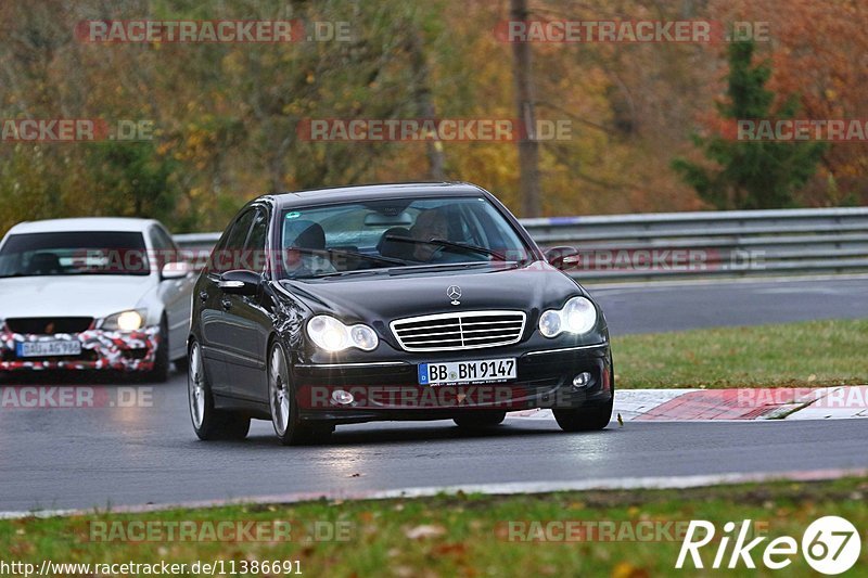
[(237, 269), (239, 248), (243, 247), (253, 223), (253, 214), (245, 211), (229, 224), (220, 241), (212, 251), (208, 267), (196, 284), (199, 299), (199, 326), (202, 356), (208, 383), (215, 391), (228, 395), (232, 378), (227, 371), (227, 351), (232, 346), (232, 335), (226, 323), (225, 294), (220, 290), (220, 274)]

